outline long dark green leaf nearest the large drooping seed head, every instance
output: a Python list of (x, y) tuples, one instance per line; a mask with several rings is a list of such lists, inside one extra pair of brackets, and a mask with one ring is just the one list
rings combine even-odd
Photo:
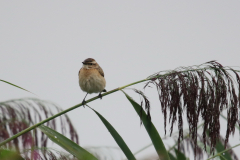
[(167, 150), (162, 142), (162, 139), (161, 139), (160, 135), (158, 134), (155, 126), (153, 125), (151, 120), (147, 117), (147, 115), (144, 111), (142, 111), (142, 114), (140, 113), (142, 107), (138, 103), (136, 103), (127, 93), (125, 93), (124, 91), (122, 91), (122, 92), (125, 94), (127, 99), (132, 104), (133, 108), (135, 109), (135, 111), (137, 112), (139, 117), (141, 118), (143, 125), (144, 125), (145, 129), (147, 130), (149, 137), (152, 140), (153, 146), (155, 147), (155, 150), (157, 151), (159, 158), (161, 160), (170, 160), (170, 158), (168, 156), (168, 152), (167, 152)]

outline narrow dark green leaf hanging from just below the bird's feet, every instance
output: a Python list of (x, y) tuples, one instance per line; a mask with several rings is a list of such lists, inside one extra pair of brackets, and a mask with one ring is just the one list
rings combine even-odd
[[(88, 106), (89, 107), (89, 106)], [(91, 108), (91, 107), (89, 107)], [(92, 109), (92, 108), (91, 108)], [(118, 134), (118, 132), (113, 128), (113, 126), (101, 115), (99, 114), (97, 111), (95, 111), (94, 109), (92, 109), (97, 115), (98, 117), (101, 119), (101, 121), (103, 122), (103, 124), (106, 126), (106, 128), (108, 129), (108, 131), (110, 132), (110, 134), (112, 135), (112, 137), (115, 139), (115, 141), (117, 142), (118, 146), (121, 148), (121, 150), (123, 151), (123, 153), (125, 154), (125, 156), (127, 157), (127, 159), (129, 160), (135, 160), (136, 158), (134, 157), (133, 153), (130, 151), (130, 149), (128, 148), (128, 146), (126, 145), (126, 143), (124, 142), (124, 140), (122, 139), (122, 137)]]

